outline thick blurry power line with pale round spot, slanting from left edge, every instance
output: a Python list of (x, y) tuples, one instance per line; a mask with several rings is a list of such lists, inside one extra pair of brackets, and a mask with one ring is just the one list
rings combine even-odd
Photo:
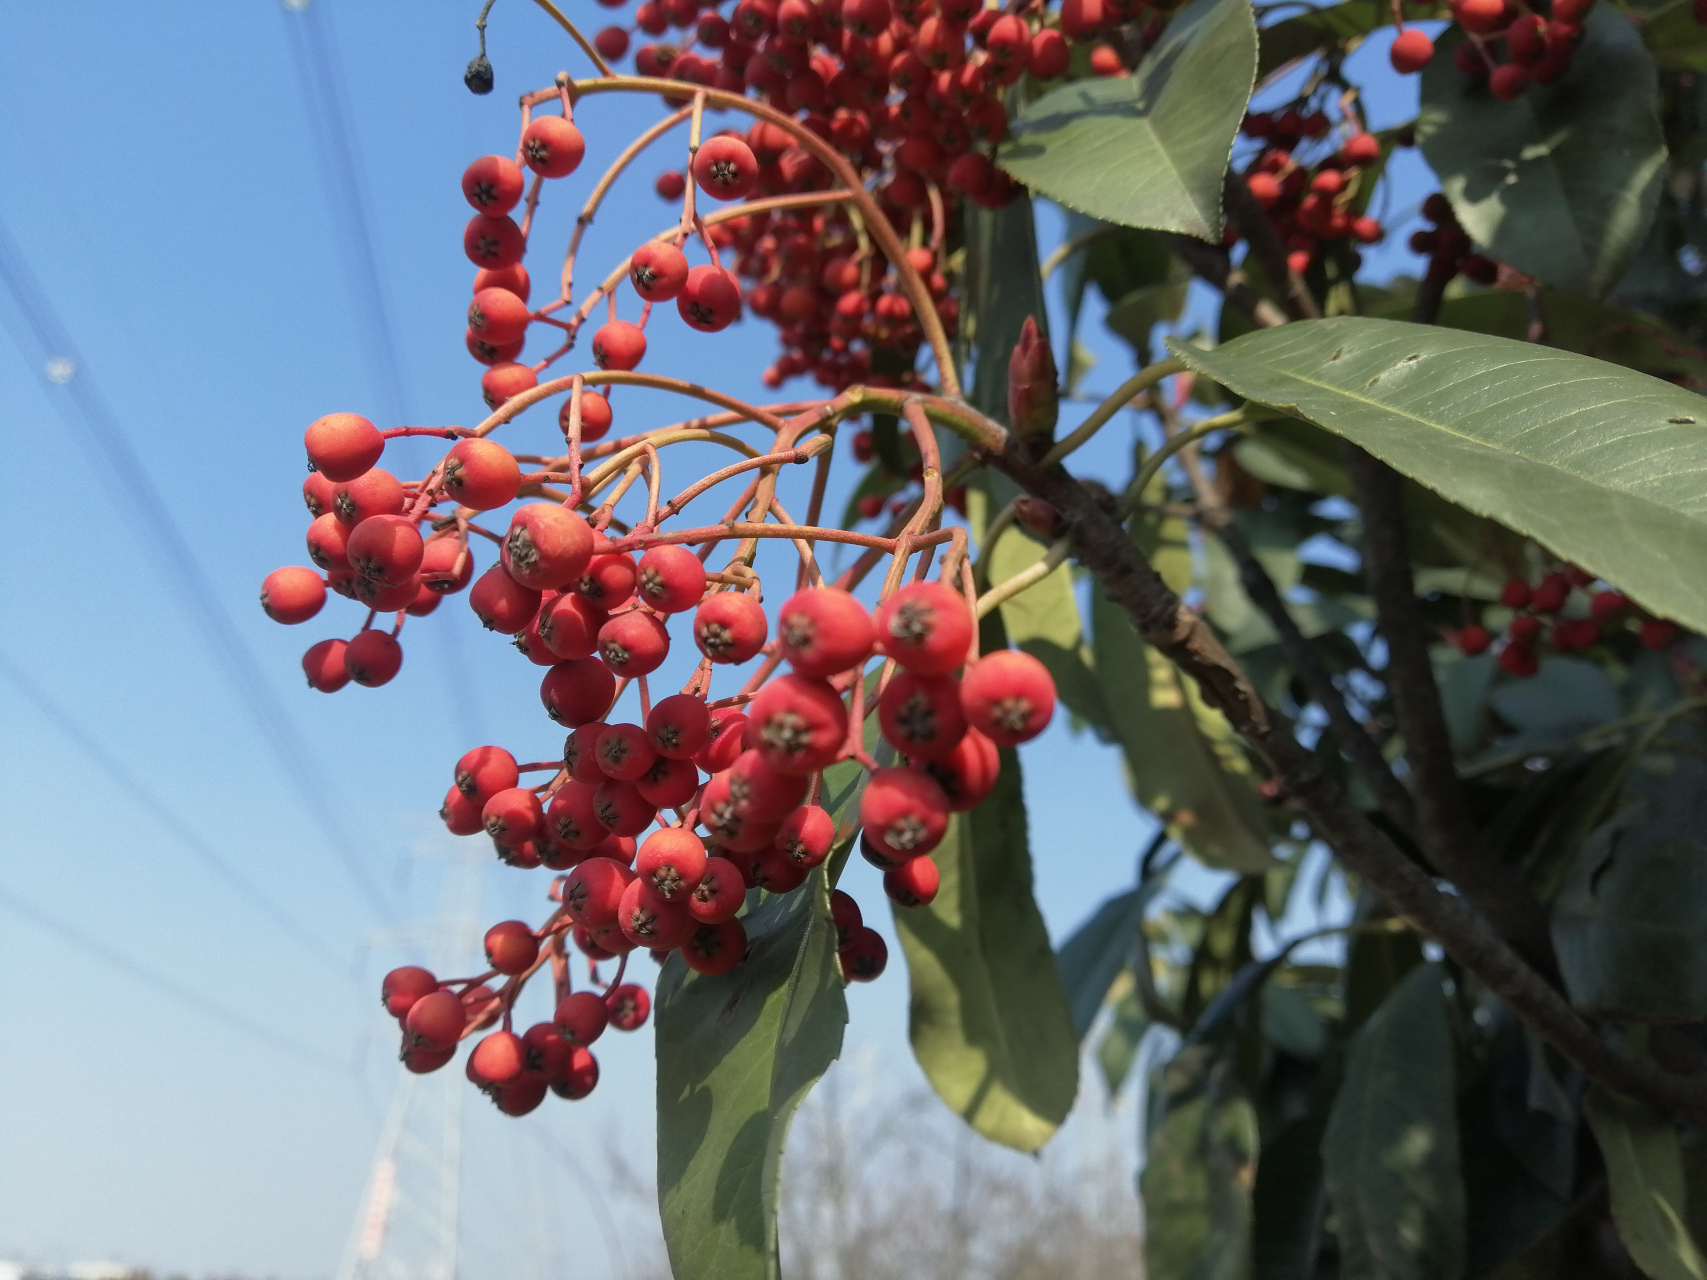
[(355, 857), (343, 831), (328, 814), (331, 785), (314, 761), (295, 724), (285, 715), (278, 696), (261, 674), (259, 664), (244, 643), (220, 596), (191, 551), (183, 531), (171, 517), (171, 507), (154, 486), (142, 457), (108, 408), (70, 333), (29, 270), (12, 232), (0, 220), (0, 285), (12, 295), (19, 323), (9, 324), (19, 346), (46, 379), (50, 399), (72, 433), (85, 444), (111, 473), (113, 486), (130, 507), (137, 527), (154, 544), (154, 560), (166, 575), (178, 604), (189, 613), (201, 640), (213, 650), (225, 676), (236, 686), (244, 708), (261, 727), (268, 746), (283, 765), (312, 821), (321, 828), (343, 869), (360, 889), (376, 915), (386, 918), (389, 905), (367, 869)]

